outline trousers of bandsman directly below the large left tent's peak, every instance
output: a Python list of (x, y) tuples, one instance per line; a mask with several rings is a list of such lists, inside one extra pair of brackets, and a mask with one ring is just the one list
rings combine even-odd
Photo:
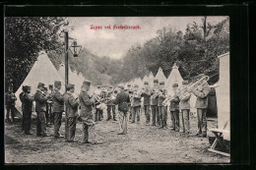
[(36, 136), (46, 136), (45, 112), (36, 112)]

